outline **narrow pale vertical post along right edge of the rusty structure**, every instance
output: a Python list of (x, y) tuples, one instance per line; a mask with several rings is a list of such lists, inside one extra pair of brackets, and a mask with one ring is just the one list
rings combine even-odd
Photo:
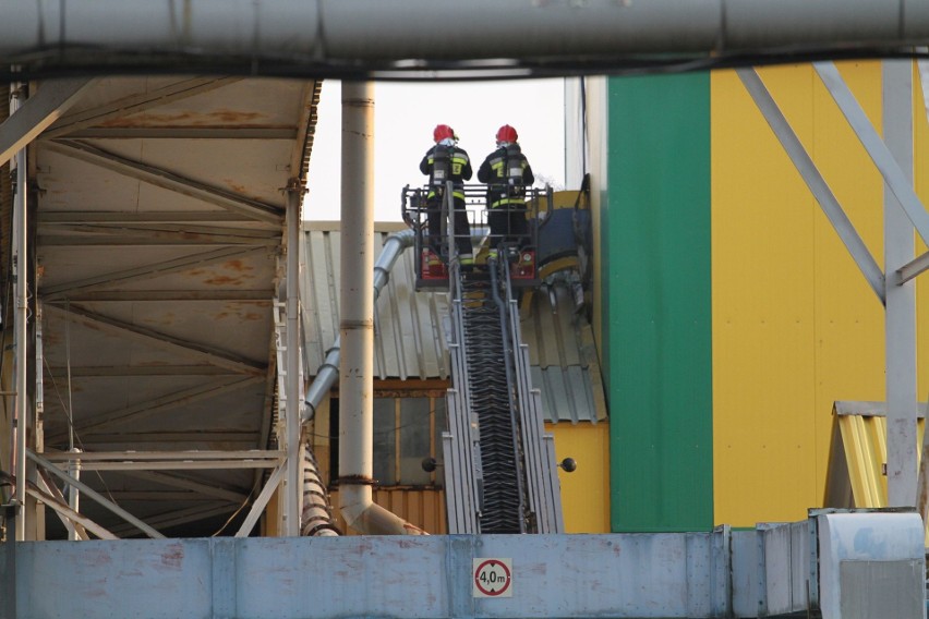
[(287, 187), (287, 465), (283, 477), (283, 535), (300, 535), (300, 316), (298, 279), (300, 278), (300, 182), (291, 179)]

